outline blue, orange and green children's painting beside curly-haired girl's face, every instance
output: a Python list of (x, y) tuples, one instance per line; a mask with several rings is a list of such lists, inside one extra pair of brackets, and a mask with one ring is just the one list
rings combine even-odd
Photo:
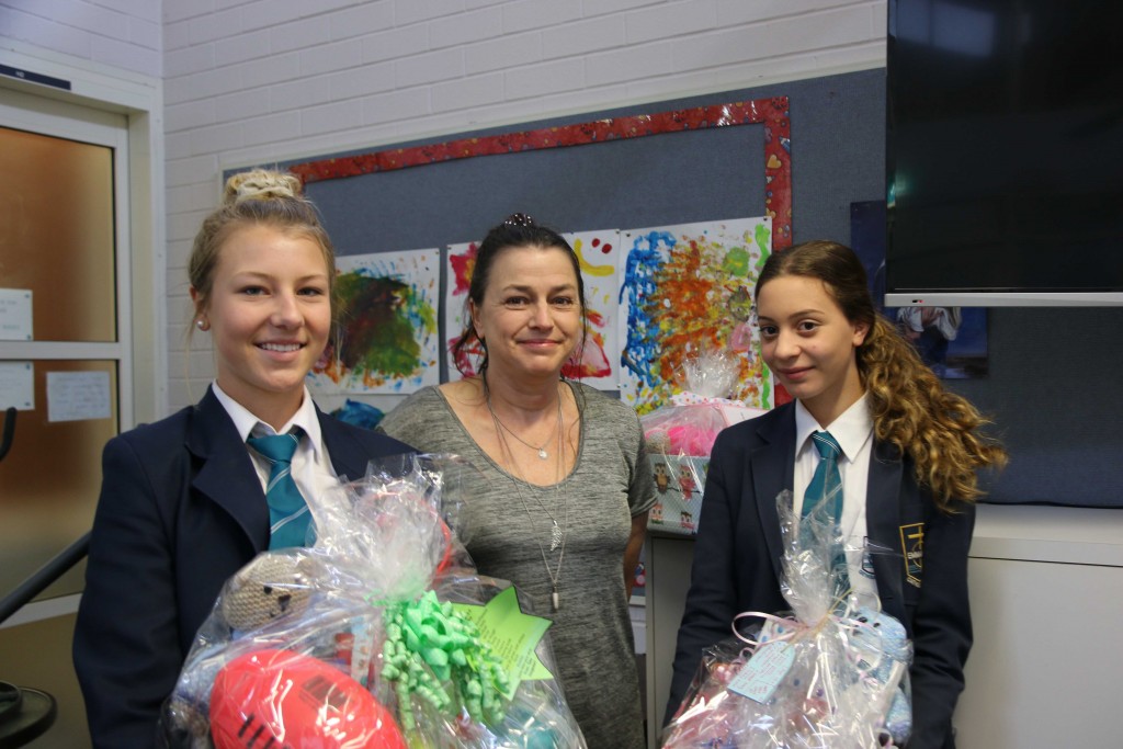
[(621, 232), (618, 335), (621, 398), (639, 413), (687, 390), (684, 364), (707, 351), (732, 355), (740, 376), (728, 393), (772, 408), (772, 377), (758, 356), (752, 289), (772, 252), (772, 219), (745, 218)]

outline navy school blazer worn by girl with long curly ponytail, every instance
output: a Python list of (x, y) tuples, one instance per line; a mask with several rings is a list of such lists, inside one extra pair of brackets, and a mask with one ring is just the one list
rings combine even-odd
[[(794, 475), (794, 403), (718, 436), (665, 720), (685, 696), (702, 650), (732, 636), (737, 614), (791, 609), (779, 587), (783, 542), (776, 495), (792, 488)], [(913, 642), (909, 749), (953, 749), (951, 715), (971, 647), (967, 552), (975, 508), (961, 502), (956, 514), (941, 512), (917, 486), (911, 460), (875, 442), (866, 522), (870, 544), (896, 552), (874, 555), (873, 563), (882, 609), (904, 624)], [(922, 557), (915, 557), (917, 551)]]

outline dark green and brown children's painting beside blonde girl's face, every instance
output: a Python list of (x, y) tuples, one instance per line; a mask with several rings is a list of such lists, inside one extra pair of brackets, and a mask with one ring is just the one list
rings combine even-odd
[(440, 381), (440, 250), (345, 255), (336, 261), (340, 320), (312, 369), (313, 392), (412, 393)]

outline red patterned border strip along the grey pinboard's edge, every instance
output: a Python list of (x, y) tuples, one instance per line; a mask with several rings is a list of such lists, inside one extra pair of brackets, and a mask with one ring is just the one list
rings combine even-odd
[(679, 109), (562, 125), (427, 146), (390, 148), (323, 158), (289, 166), (304, 183), (439, 164), (474, 156), (513, 154), (538, 148), (568, 148), (624, 138), (738, 125), (765, 126), (765, 214), (773, 219), (773, 249), (792, 244), (792, 127), (787, 97)]

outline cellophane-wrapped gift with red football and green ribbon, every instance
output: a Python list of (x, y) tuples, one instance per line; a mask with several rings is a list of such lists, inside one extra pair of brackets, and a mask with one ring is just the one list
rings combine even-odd
[(549, 621), (459, 541), (450, 485), (469, 469), (407, 456), (310, 497), (316, 546), (227, 582), (164, 705), (165, 745), (584, 747)]

